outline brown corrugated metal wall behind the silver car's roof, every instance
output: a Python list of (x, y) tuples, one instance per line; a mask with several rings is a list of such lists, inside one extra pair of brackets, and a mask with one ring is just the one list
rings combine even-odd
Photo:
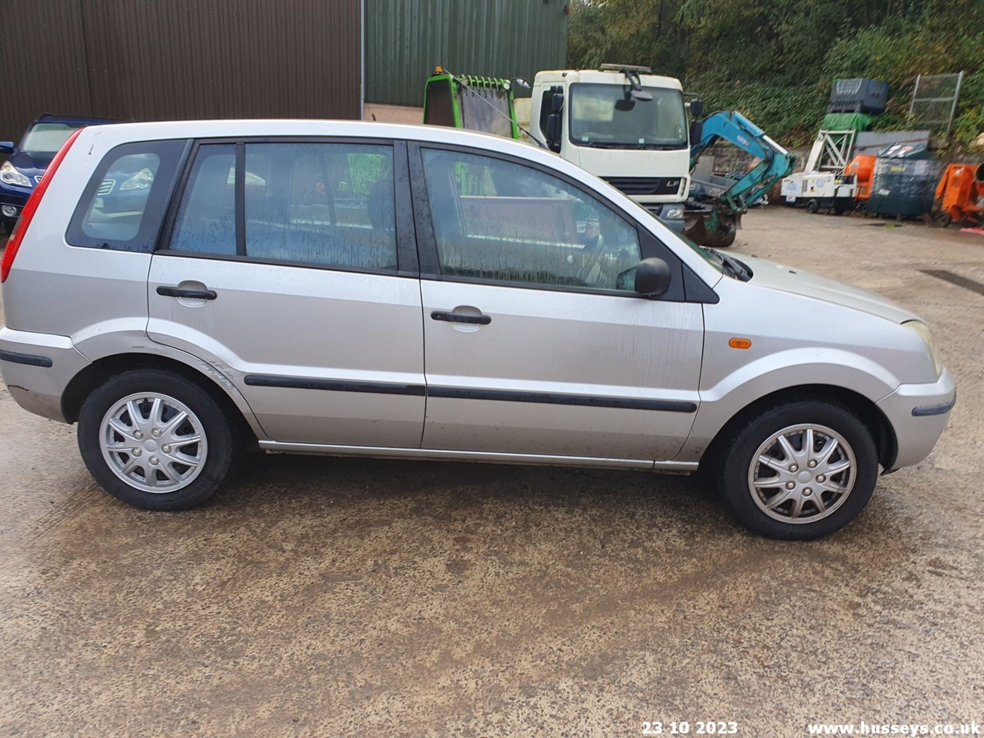
[(48, 111), (361, 117), (360, 0), (0, 0), (0, 139)]

